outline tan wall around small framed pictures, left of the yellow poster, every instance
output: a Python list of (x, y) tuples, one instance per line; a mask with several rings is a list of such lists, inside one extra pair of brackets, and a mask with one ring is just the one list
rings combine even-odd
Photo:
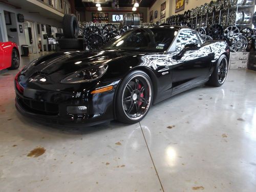
[[(170, 10), (170, 1), (172, 0), (157, 0), (152, 7), (150, 7), (147, 11), (147, 22), (150, 22), (150, 12), (153, 10), (153, 23), (158, 22), (160, 19), (161, 14), (161, 4), (166, 2), (166, 9), (165, 9), (165, 17), (169, 17), (169, 10)], [(157, 18), (155, 18), (155, 11), (157, 11)]]

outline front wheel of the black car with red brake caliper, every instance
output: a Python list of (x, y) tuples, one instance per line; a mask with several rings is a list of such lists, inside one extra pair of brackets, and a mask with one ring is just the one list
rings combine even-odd
[[(153, 85), (143, 71), (133, 71), (121, 81), (116, 96), (117, 120), (133, 124), (142, 120), (153, 101)], [(139, 115), (139, 116), (138, 116)]]

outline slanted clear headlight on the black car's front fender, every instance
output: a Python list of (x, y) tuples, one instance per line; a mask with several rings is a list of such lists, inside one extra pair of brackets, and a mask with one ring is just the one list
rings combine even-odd
[(104, 66), (92, 67), (82, 71), (77, 71), (72, 75), (69, 75), (65, 79), (62, 79), (60, 82), (61, 83), (91, 82), (102, 77), (102, 75), (104, 75), (107, 69), (108, 69), (108, 66), (104, 65)]

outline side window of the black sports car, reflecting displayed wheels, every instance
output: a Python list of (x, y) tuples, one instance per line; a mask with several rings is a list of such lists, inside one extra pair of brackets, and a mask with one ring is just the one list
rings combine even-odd
[(199, 44), (197, 33), (191, 30), (183, 30), (180, 32), (177, 42), (176, 51), (181, 51), (187, 44)]

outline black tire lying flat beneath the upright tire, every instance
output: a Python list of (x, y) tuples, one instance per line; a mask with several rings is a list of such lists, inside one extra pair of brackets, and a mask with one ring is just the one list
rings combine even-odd
[(62, 38), (59, 39), (59, 48), (61, 50), (66, 49), (76, 49), (83, 50), (83, 39), (72, 39), (72, 38)]

